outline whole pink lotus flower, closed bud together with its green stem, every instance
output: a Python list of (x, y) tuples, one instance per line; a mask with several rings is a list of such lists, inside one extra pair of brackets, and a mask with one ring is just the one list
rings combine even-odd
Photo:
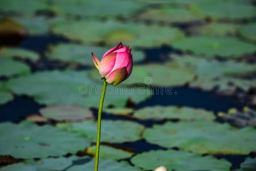
[(101, 80), (104, 80), (97, 118), (97, 142), (94, 171), (97, 171), (99, 167), (101, 111), (107, 83), (115, 86), (131, 75), (133, 66), (131, 51), (132, 49), (129, 48), (129, 46), (124, 47), (120, 42), (116, 47), (105, 52), (101, 60), (99, 60), (94, 52), (92, 52), (92, 61), (97, 70), (99, 70)]

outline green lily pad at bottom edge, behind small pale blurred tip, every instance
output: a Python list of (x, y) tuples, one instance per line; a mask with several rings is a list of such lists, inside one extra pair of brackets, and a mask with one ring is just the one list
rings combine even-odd
[(177, 150), (151, 150), (137, 154), (132, 163), (145, 170), (165, 166), (168, 170), (230, 170), (231, 164), (226, 160), (217, 160), (213, 156), (202, 157), (200, 154)]

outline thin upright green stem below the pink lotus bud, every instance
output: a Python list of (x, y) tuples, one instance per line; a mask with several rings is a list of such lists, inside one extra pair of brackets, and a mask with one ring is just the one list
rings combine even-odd
[(101, 111), (102, 111), (102, 107), (103, 107), (103, 101), (104, 101), (104, 97), (105, 97), (106, 87), (107, 87), (107, 82), (105, 82), (105, 80), (104, 80), (103, 89), (102, 89), (101, 98), (100, 98), (99, 112), (97, 115), (97, 143), (96, 143), (94, 171), (97, 171), (98, 166), (99, 166)]

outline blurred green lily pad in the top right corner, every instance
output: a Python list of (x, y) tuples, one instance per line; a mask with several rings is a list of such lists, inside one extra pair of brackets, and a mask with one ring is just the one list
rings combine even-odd
[(214, 19), (249, 19), (256, 16), (256, 7), (234, 1), (197, 1), (192, 5), (192, 11), (203, 17)]

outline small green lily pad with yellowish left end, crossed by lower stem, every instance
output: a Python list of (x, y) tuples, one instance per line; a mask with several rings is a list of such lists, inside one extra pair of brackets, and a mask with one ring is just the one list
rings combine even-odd
[[(96, 145), (90, 146), (87, 148), (86, 152), (95, 156)], [(124, 158), (129, 158), (132, 156), (131, 152), (126, 152), (125, 150), (116, 149), (107, 145), (100, 145), (100, 158), (112, 159), (112, 160), (121, 160)]]

